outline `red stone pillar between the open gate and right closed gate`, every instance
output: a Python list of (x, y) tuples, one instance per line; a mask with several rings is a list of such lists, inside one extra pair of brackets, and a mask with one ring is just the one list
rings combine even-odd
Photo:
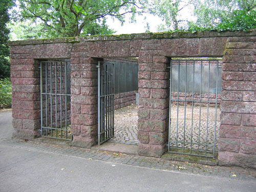
[(160, 157), (166, 151), (169, 112), (169, 59), (159, 39), (142, 41), (139, 54), (139, 155)]

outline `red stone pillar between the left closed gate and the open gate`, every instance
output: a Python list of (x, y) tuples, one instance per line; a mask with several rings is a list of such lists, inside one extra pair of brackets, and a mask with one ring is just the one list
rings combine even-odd
[(83, 44), (74, 45), (70, 59), (72, 145), (90, 148), (97, 141), (97, 60), (83, 57)]

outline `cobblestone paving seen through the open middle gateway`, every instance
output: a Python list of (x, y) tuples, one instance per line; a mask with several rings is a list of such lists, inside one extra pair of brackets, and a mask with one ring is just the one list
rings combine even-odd
[(135, 104), (115, 110), (115, 136), (110, 142), (138, 144), (138, 108)]

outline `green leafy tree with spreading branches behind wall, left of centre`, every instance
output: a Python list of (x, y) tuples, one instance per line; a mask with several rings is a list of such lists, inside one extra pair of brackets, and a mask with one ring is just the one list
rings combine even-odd
[(110, 34), (105, 24), (108, 16), (124, 22), (124, 15), (142, 12), (141, 0), (17, 0), (20, 11), (16, 20), (33, 20), (45, 26), (51, 37), (80, 36), (81, 34)]

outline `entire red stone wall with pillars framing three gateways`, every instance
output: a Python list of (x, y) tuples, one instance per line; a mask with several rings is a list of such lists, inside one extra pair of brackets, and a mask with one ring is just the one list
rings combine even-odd
[(167, 146), (170, 58), (224, 55), (219, 163), (255, 168), (255, 41), (256, 31), (204, 31), (10, 42), (14, 136), (39, 136), (39, 60), (70, 58), (72, 145), (90, 148), (97, 135), (97, 62), (138, 57), (138, 153), (160, 157)]

